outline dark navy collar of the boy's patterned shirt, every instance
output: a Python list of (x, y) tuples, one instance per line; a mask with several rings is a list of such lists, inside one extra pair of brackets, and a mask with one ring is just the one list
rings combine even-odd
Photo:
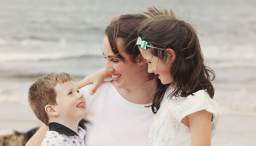
[(73, 130), (67, 128), (64, 125), (61, 125), (61, 124), (58, 124), (55, 122), (52, 122), (49, 124), (49, 130), (56, 131), (56, 132), (62, 133), (64, 135), (71, 135), (71, 136), (76, 135), (76, 132), (74, 132)]

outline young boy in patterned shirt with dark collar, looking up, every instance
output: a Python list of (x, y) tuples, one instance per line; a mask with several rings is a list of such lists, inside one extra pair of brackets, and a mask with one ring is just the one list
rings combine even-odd
[(87, 116), (84, 95), (67, 73), (50, 73), (29, 88), (29, 106), (49, 126), (41, 146), (85, 146), (79, 121)]

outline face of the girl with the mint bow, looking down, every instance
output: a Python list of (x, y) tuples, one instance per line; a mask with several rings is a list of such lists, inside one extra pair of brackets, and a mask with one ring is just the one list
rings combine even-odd
[[(139, 46), (138, 46), (139, 47)], [(140, 48), (140, 47), (139, 47)], [(171, 59), (167, 58), (166, 62), (163, 62), (157, 56), (150, 53), (149, 49), (140, 48), (140, 53), (146, 62), (148, 62), (148, 73), (154, 73), (158, 75), (158, 79), (162, 84), (172, 83), (173, 78), (171, 75)]]

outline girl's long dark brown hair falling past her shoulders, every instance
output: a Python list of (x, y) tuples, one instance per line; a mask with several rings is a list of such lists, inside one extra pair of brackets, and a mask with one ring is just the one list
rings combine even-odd
[[(138, 36), (147, 41), (151, 46), (157, 48), (171, 48), (175, 51), (175, 61), (172, 64), (170, 73), (174, 81), (157, 89), (152, 103), (154, 113), (160, 107), (163, 95), (169, 86), (174, 91), (170, 98), (178, 96), (186, 97), (193, 95), (198, 90), (206, 90), (211, 98), (214, 95), (214, 87), (211, 82), (215, 73), (204, 65), (204, 58), (201, 52), (195, 28), (177, 19), (173, 11), (166, 9), (148, 8), (145, 14), (149, 17), (141, 23), (138, 29)], [(150, 49), (154, 56), (163, 61), (167, 59), (166, 50)]]

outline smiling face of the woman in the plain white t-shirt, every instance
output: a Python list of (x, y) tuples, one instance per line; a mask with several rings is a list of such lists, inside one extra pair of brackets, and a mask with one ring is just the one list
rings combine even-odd
[(129, 56), (122, 51), (121, 38), (116, 39), (116, 46), (119, 53), (125, 58), (125, 62), (117, 58), (111, 51), (108, 37), (105, 37), (103, 43), (103, 54), (107, 59), (105, 73), (111, 73), (116, 88), (137, 88), (141, 84), (141, 79), (145, 78), (145, 76), (142, 76), (142, 70), (143, 68), (146, 69), (146, 65), (141, 66), (138, 63), (131, 62)]

